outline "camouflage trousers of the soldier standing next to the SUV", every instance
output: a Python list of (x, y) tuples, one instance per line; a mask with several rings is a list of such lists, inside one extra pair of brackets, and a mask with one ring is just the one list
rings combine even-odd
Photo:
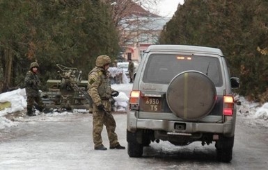
[(93, 111), (93, 142), (95, 147), (102, 144), (102, 129), (106, 126), (110, 147), (117, 146), (118, 137), (116, 131), (116, 121), (111, 113)]

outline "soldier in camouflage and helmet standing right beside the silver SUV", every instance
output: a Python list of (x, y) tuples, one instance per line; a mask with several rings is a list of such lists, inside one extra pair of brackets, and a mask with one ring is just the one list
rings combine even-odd
[(102, 129), (106, 126), (110, 149), (125, 149), (118, 142), (116, 131), (116, 121), (111, 114), (111, 94), (116, 92), (111, 88), (108, 76), (111, 59), (109, 56), (98, 56), (96, 67), (88, 74), (88, 94), (93, 100), (93, 142), (95, 150), (107, 150), (102, 144)]

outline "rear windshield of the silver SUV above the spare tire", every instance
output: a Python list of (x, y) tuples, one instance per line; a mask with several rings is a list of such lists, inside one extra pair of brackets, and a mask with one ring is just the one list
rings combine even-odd
[(196, 70), (207, 75), (216, 87), (222, 86), (219, 58), (152, 54), (143, 75), (144, 83), (168, 84), (182, 71)]

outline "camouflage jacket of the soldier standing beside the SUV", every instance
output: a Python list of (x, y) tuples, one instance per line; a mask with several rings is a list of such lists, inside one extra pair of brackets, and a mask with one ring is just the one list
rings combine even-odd
[[(103, 104), (107, 111), (111, 111), (111, 88), (108, 71), (95, 67), (88, 74), (88, 94), (93, 100), (93, 110), (96, 105)], [(95, 105), (95, 106), (94, 106)]]

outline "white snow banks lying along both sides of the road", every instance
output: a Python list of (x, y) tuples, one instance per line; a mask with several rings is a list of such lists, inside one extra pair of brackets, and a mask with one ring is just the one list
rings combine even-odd
[[(113, 84), (111, 87), (120, 92), (120, 94), (115, 97), (116, 111), (125, 111), (128, 105), (128, 96), (132, 89), (132, 84)], [(235, 99), (242, 103), (241, 105), (237, 105), (237, 119), (239, 119), (239, 117), (243, 117), (250, 126), (259, 124), (268, 127), (268, 103), (260, 105), (260, 103), (246, 101), (246, 99), (242, 96), (235, 96)], [(8, 114), (13, 114), (14, 112), (26, 112), (25, 89), (18, 89), (0, 94), (0, 103), (5, 101), (10, 101), (11, 108), (0, 110), (0, 129), (17, 126), (17, 121), (24, 121), (23, 114), (19, 114), (20, 116), (17, 116), (13, 119), (13, 121), (6, 119), (6, 117)], [(36, 112), (39, 113), (38, 111)], [(58, 119), (63, 119), (66, 115), (81, 114), (84, 112), (88, 111), (74, 110), (74, 112), (52, 112), (49, 114), (39, 113), (35, 119), (42, 121), (44, 117), (46, 117), (49, 121), (57, 121)]]

